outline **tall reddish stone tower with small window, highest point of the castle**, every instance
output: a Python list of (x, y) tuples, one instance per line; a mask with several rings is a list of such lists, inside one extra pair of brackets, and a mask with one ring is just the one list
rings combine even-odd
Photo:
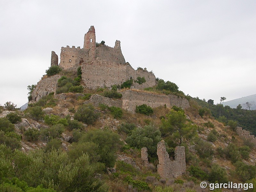
[(96, 57), (96, 36), (93, 26), (84, 35), (84, 49), (88, 50), (89, 60), (95, 60)]

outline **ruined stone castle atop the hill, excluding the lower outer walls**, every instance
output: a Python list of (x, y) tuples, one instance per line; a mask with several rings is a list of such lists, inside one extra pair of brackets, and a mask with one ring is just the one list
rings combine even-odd
[(125, 62), (121, 51), (120, 41), (116, 40), (114, 48), (96, 43), (93, 26), (84, 35), (84, 47), (61, 47), (60, 64), (58, 55), (52, 51), (51, 66), (59, 65), (66, 70), (82, 68), (82, 80), (86, 87), (111, 87), (122, 84), (126, 80), (136, 80), (144, 77), (144, 84), (134, 83), (132, 88), (142, 89), (156, 85), (156, 77), (146, 68), (134, 70)]

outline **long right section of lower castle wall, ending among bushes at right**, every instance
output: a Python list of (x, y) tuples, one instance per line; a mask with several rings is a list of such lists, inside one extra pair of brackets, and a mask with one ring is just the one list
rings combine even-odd
[(136, 105), (146, 104), (152, 108), (164, 106), (171, 108), (173, 104), (180, 108), (189, 108), (188, 100), (175, 95), (157, 95), (147, 92), (136, 92), (132, 90), (126, 90), (122, 92), (122, 100), (124, 109), (135, 112)]

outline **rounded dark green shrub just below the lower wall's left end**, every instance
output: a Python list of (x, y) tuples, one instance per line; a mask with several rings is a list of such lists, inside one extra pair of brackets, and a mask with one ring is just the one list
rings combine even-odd
[(93, 124), (98, 117), (99, 113), (94, 112), (92, 105), (82, 105), (78, 107), (74, 118), (86, 124)]

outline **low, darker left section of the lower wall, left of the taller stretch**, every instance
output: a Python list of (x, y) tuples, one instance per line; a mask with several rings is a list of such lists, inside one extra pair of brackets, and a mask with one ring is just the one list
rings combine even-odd
[(109, 107), (115, 106), (122, 108), (122, 100), (112, 100), (108, 97), (103, 97), (101, 95), (91, 95), (90, 99), (88, 101), (85, 101), (84, 103), (91, 103), (94, 106), (98, 107), (100, 103), (106, 104)]

